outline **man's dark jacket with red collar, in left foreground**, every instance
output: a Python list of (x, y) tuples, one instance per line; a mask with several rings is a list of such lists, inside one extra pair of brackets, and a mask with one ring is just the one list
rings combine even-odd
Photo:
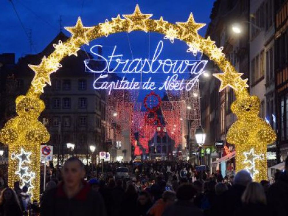
[(63, 184), (46, 191), (41, 200), (41, 216), (106, 216), (105, 205), (101, 195), (93, 191), (89, 184), (73, 198), (67, 198)]

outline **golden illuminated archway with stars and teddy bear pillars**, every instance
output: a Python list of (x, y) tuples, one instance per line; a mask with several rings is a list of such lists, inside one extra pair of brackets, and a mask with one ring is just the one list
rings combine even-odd
[(84, 27), (79, 17), (73, 27), (66, 27), (72, 36), (66, 41), (53, 44), (55, 50), (48, 57), (43, 57), (39, 65), (29, 65), (35, 72), (31, 87), (25, 96), (16, 99), (18, 116), (5, 124), (0, 131), (0, 141), (9, 145), (9, 180), (10, 187), (14, 181), (21, 181), (28, 185), (32, 192), (32, 199), (39, 200), (40, 191), (40, 144), (49, 140), (49, 133), (44, 125), (38, 121), (39, 114), (44, 109), (40, 95), (44, 87), (51, 85), (50, 74), (60, 67), (60, 61), (71, 55), (77, 56), (77, 51), (83, 44), (99, 37), (110, 34), (131, 31), (157, 32), (164, 35), (164, 39), (172, 43), (175, 39), (187, 43), (187, 52), (202, 52), (213, 60), (224, 72), (214, 74), (221, 80), (219, 91), (231, 87), (236, 93), (236, 101), (232, 104), (232, 111), (238, 121), (228, 132), (227, 140), (236, 144), (236, 171), (246, 168), (255, 180), (266, 179), (266, 144), (274, 142), (276, 135), (270, 125), (258, 117), (259, 99), (250, 97), (247, 91), (247, 79), (242, 80), (242, 73), (238, 73), (217, 48), (215, 42), (198, 35), (197, 31), (205, 24), (196, 23), (191, 13), (187, 22), (169, 23), (160, 17), (159, 20), (150, 19), (152, 14), (142, 14), (136, 5), (133, 14), (118, 14), (116, 18), (105, 20), (96, 26)]

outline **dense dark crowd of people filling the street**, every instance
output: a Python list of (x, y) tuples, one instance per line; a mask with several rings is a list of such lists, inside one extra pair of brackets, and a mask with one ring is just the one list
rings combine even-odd
[[(228, 178), (217, 172), (197, 172), (185, 161), (109, 163), (86, 175), (76, 157), (65, 161), (61, 181), (50, 178), (40, 203), (31, 203), (27, 187), (2, 187), (0, 216), (217, 216), (288, 215), (288, 159), (275, 183), (253, 182), (241, 170)], [(116, 178), (117, 167), (127, 167), (128, 179)], [(97, 176), (94, 178), (94, 175)], [(88, 178), (88, 179), (87, 179)], [(89, 179), (90, 178), (90, 179)], [(200, 181), (201, 180), (201, 181)]]

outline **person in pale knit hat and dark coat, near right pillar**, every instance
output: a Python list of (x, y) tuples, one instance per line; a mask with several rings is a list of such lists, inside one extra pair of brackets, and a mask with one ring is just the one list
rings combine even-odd
[(233, 214), (238, 206), (241, 206), (241, 197), (246, 186), (252, 182), (252, 177), (246, 170), (240, 170), (234, 177), (233, 185), (222, 196), (217, 197), (217, 204), (212, 206), (215, 216), (223, 215), (223, 209)]

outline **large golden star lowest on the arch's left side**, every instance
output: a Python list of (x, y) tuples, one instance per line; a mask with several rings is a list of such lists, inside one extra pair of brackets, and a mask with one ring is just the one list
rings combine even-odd
[(42, 79), (49, 85), (51, 85), (50, 74), (52, 74), (58, 69), (57, 67), (50, 67), (45, 56), (43, 57), (39, 65), (28, 65), (28, 66), (35, 72), (33, 82), (37, 82), (39, 79)]

